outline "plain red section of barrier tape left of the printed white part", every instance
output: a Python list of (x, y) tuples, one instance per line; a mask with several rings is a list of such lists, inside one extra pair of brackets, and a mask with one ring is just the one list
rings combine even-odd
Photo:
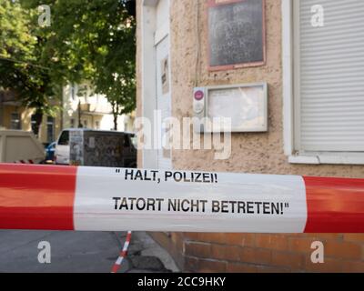
[(74, 230), (76, 171), (0, 165), (0, 229)]

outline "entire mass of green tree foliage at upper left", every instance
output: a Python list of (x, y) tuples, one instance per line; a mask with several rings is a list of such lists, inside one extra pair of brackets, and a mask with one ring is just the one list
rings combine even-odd
[[(38, 25), (38, 5), (50, 6), (51, 26)], [(38, 112), (52, 112), (66, 82), (87, 80), (106, 95), (114, 115), (130, 113), (135, 32), (120, 0), (0, 0), (0, 86)]]

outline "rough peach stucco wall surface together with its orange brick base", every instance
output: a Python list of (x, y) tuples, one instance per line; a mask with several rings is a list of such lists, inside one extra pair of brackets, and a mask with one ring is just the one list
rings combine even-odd
[[(142, 0), (137, 0), (137, 115), (141, 116), (142, 98)], [(283, 83), (281, 1), (266, 1), (267, 64), (259, 67), (209, 72), (207, 57), (207, 5), (205, 0), (172, 1), (171, 17), (171, 86), (172, 115), (182, 120), (191, 116), (192, 92), (196, 72), (198, 85), (233, 85), (268, 82), (269, 131), (266, 134), (232, 135), (232, 155), (217, 161), (209, 150), (173, 152), (173, 167), (184, 170), (282, 174), (299, 176), (362, 177), (363, 166), (293, 165), (288, 163), (283, 145)], [(197, 5), (200, 26), (196, 30)], [(197, 33), (200, 45), (197, 45)], [(197, 65), (196, 53), (201, 60)], [(198, 70), (197, 70), (198, 69)], [(139, 151), (138, 166), (142, 165)], [(166, 234), (152, 236), (175, 257), (184, 271), (213, 272), (364, 272), (364, 235), (222, 235)], [(325, 264), (310, 262), (311, 243), (325, 246)]]

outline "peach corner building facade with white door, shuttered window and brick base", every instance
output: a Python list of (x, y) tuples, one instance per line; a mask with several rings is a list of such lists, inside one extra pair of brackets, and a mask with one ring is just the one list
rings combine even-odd
[[(232, 134), (227, 159), (213, 149), (145, 149), (138, 166), (363, 178), (363, 2), (253, 2), (136, 1), (137, 116), (152, 125), (155, 110), (192, 117), (196, 87), (268, 85), (268, 129)], [(185, 271), (364, 271), (364, 235), (153, 236)], [(324, 264), (310, 259), (315, 241)]]

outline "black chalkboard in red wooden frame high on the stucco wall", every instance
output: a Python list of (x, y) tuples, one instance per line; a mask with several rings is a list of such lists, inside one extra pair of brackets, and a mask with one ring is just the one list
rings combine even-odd
[(265, 64), (264, 0), (208, 1), (210, 70)]

